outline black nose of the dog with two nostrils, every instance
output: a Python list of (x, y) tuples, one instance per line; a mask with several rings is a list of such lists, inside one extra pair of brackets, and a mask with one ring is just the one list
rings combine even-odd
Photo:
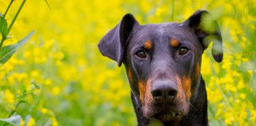
[(157, 100), (169, 100), (177, 95), (177, 86), (171, 81), (152, 83), (152, 97)]

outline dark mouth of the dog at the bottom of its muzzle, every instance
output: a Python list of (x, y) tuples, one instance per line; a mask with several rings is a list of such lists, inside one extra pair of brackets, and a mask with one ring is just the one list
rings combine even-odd
[(150, 118), (156, 118), (158, 120), (162, 121), (169, 121), (169, 120), (176, 120), (178, 119), (182, 114), (177, 112), (171, 112), (171, 113), (156, 113), (150, 116)]

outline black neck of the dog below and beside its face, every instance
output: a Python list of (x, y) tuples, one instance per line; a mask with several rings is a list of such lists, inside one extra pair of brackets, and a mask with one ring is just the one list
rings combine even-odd
[(146, 125), (164, 125), (164, 126), (183, 126), (183, 125), (208, 125), (207, 116), (207, 95), (205, 90), (205, 81), (201, 78), (197, 95), (192, 95), (190, 98), (190, 111), (179, 122), (162, 122), (156, 119), (149, 119), (143, 116), (141, 106), (137, 99), (131, 93), (132, 102), (134, 104), (135, 113), (137, 116), (137, 123), (139, 126)]

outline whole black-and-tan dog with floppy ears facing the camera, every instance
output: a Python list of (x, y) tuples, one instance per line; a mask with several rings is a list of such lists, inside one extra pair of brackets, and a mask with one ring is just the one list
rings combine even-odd
[[(183, 23), (140, 25), (131, 14), (100, 40), (101, 54), (126, 67), (138, 125), (208, 125), (201, 54), (213, 42), (222, 61), (220, 28), (205, 10)], [(117, 83), (118, 84), (118, 83)]]

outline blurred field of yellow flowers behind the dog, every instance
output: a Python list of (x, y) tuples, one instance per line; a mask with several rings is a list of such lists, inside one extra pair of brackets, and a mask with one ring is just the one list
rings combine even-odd
[[(11, 0), (0, 1), (0, 13)], [(6, 15), (9, 24), (21, 0)], [(48, 3), (48, 5), (47, 5)], [(36, 33), (0, 64), (0, 125), (136, 125), (125, 69), (102, 57), (101, 37), (133, 13), (141, 24), (181, 22), (197, 9), (219, 21), (224, 61), (202, 59), (210, 125), (256, 125), (256, 2), (29, 0), (4, 46)], [(210, 48), (209, 48), (210, 49)]]

